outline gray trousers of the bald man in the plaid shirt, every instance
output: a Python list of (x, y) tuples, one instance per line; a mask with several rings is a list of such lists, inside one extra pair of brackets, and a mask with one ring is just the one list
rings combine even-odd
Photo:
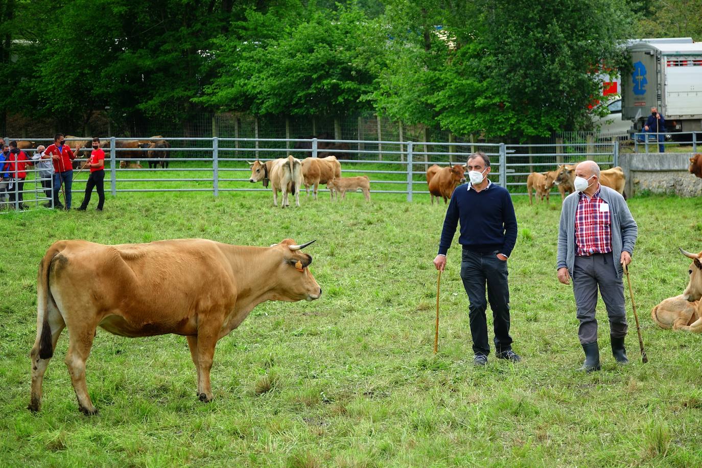
[[(618, 259), (617, 259), (618, 260)], [(624, 337), (628, 330), (624, 308), (624, 283), (617, 278), (612, 253), (596, 253), (590, 257), (576, 255), (573, 267), (573, 293), (580, 321), (578, 338), (582, 345), (597, 341), (597, 286), (609, 316), (609, 333)]]

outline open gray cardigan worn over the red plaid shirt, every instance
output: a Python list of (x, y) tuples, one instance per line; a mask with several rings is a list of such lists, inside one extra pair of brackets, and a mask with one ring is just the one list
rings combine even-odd
[[(574, 192), (563, 201), (561, 210), (561, 222), (558, 227), (558, 265), (557, 268), (567, 267), (568, 272), (573, 276), (573, 264), (575, 263), (575, 212), (578, 208), (580, 194)], [(610, 189), (600, 185), (600, 197), (609, 204), (611, 213), (612, 232), (612, 257), (616, 265), (617, 276), (621, 278), (624, 270), (619, 263), (622, 252), (633, 253), (638, 227), (632, 217), (629, 207), (626, 205), (624, 197)]]

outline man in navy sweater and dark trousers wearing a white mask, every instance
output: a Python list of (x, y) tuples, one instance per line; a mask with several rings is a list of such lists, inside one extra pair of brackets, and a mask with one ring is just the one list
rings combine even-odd
[(470, 334), (473, 338), (473, 362), (487, 363), (490, 345), (487, 335), (485, 286), (495, 328), (498, 359), (518, 362), (510, 337), (510, 290), (507, 259), (517, 241), (517, 218), (507, 189), (488, 180), (490, 158), (484, 153), (468, 156), (470, 183), (459, 185), (451, 195), (446, 210), (444, 230), (439, 242), (437, 269), (446, 267), (446, 251), (451, 246), (456, 225), (461, 222), (458, 242), (463, 246), (461, 279), (470, 300)]

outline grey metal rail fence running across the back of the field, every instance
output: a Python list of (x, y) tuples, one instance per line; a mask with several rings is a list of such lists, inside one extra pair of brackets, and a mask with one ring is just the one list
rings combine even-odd
[[(26, 139), (25, 139), (26, 140)], [(34, 142), (51, 141), (41, 138)], [(558, 143), (555, 145), (507, 145), (476, 142), (413, 142), (397, 140), (323, 140), (286, 138), (167, 138), (170, 148), (117, 147), (131, 138), (103, 138), (105, 192), (265, 192), (249, 183), (249, 161), (268, 161), (293, 154), (300, 159), (332, 152), (344, 175), (369, 175), (374, 193), (428, 194), (426, 171), (432, 164), (465, 163), (468, 154), (484, 152), (491, 159), (491, 180), (512, 194), (524, 194), (527, 176), (555, 169), (559, 164), (594, 159), (609, 167), (618, 163), (618, 142)], [(161, 138), (140, 138), (143, 142)], [(67, 139), (71, 144), (76, 140)], [(295, 148), (298, 144), (298, 148)], [(363, 145), (361, 147), (361, 144)], [(307, 147), (300, 148), (300, 145)], [(336, 149), (324, 149), (336, 145)], [(25, 149), (32, 152), (33, 149)], [(89, 150), (89, 149), (88, 149)], [(146, 152), (153, 151), (152, 158)], [(167, 152), (166, 154), (163, 154)], [(128, 154), (130, 157), (124, 157)], [(145, 157), (140, 157), (143, 154)], [(364, 154), (364, 159), (359, 159)], [(164, 156), (168, 159), (164, 159)], [(81, 159), (84, 161), (84, 159)], [(120, 168), (121, 161), (131, 166)], [(144, 168), (137, 162), (168, 161), (167, 168)], [(75, 169), (74, 193), (84, 192), (87, 171)], [(36, 184), (36, 182), (35, 182)]]

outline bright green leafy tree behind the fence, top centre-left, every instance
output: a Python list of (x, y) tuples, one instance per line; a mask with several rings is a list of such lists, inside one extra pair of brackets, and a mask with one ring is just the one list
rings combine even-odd
[(288, 13), (249, 12), (246, 31), (219, 41), (220, 75), (196, 101), (253, 114), (340, 115), (369, 108), (362, 97), (373, 89), (384, 52), (373, 41), (374, 23), (356, 8), (299, 9), (305, 19), (284, 27), (277, 22), (290, 20)]

